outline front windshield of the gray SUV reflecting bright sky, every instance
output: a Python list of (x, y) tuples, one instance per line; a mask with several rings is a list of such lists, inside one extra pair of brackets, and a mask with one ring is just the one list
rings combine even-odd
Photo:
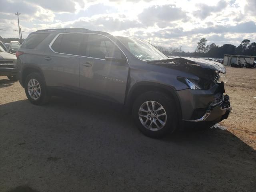
[(130, 37), (116, 37), (118, 40), (126, 46), (126, 48), (137, 58), (143, 61), (152, 61), (152, 60), (160, 60), (168, 58), (162, 52), (160, 52), (157, 48), (152, 46), (146, 41), (130, 38)]

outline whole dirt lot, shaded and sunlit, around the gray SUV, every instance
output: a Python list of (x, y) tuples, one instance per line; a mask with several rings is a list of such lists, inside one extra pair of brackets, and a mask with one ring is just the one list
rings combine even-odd
[(256, 69), (227, 70), (227, 130), (162, 140), (102, 102), (33, 106), (18, 82), (0, 77), (0, 192), (255, 191)]

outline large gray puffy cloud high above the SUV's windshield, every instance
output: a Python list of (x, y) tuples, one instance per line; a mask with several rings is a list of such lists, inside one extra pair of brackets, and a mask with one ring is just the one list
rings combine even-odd
[(138, 15), (139, 21), (145, 26), (157, 24), (163, 28), (168, 23), (176, 20), (186, 20), (187, 15), (181, 8), (175, 5), (150, 6)]

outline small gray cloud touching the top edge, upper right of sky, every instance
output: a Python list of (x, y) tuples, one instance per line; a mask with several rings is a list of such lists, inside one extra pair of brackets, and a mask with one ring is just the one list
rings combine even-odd
[(200, 19), (205, 19), (211, 15), (212, 12), (220, 12), (228, 6), (228, 3), (225, 0), (220, 0), (216, 6), (209, 6), (207, 4), (197, 4), (198, 10), (193, 12), (195, 17)]

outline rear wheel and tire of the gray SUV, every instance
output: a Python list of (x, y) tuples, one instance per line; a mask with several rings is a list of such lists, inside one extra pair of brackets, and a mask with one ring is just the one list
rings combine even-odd
[[(30, 87), (30, 90), (28, 87)], [(34, 105), (43, 105), (50, 101), (46, 84), (39, 73), (28, 74), (25, 80), (25, 92), (28, 100)]]

